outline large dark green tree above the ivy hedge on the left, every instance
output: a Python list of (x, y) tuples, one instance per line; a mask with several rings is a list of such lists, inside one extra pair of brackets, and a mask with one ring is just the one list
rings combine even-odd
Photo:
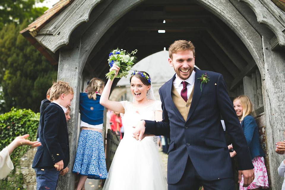
[(0, 31), (0, 112), (11, 107), (39, 112), (42, 99), (57, 78), (56, 69), (19, 31), (28, 26), (7, 24)]

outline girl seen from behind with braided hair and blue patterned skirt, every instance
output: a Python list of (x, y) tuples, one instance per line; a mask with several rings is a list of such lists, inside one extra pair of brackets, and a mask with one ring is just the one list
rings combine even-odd
[(87, 178), (106, 179), (107, 168), (102, 138), (104, 107), (99, 104), (104, 82), (91, 79), (87, 93), (80, 93), (81, 132), (72, 172), (80, 174), (77, 190), (85, 189)]

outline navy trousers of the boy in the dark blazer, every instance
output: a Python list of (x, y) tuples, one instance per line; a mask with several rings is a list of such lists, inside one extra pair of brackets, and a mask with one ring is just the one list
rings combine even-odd
[(59, 171), (56, 171), (56, 168), (42, 169), (36, 167), (34, 169), (37, 174), (37, 190), (56, 190), (59, 175)]

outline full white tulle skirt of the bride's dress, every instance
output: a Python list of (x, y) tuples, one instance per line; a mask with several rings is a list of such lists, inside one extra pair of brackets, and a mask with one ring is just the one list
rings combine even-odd
[(103, 190), (165, 190), (166, 172), (153, 137), (121, 140)]

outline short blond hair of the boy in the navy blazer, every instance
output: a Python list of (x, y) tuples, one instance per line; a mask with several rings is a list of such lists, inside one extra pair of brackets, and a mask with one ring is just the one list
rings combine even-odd
[(53, 83), (50, 89), (50, 102), (60, 98), (61, 94), (73, 94), (73, 88), (71, 88), (68, 83), (59, 80)]

